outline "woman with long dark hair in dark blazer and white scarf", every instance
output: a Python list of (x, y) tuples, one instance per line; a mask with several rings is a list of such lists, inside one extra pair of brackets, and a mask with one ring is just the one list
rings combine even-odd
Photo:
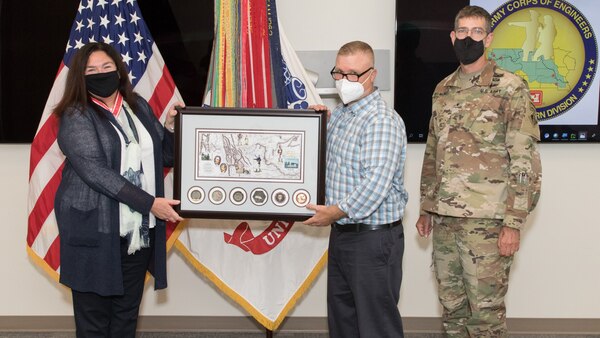
[(134, 337), (146, 271), (155, 289), (167, 286), (165, 221), (182, 220), (163, 186), (177, 112), (162, 125), (104, 43), (75, 54), (55, 112), (66, 156), (60, 282), (72, 289), (77, 337)]

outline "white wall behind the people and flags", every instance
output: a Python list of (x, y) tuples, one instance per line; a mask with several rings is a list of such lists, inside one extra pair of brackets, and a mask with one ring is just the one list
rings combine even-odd
[[(374, 5), (375, 4), (375, 5)], [(394, 49), (394, 0), (279, 0), (280, 20), (297, 50), (337, 49), (364, 40)], [(449, 13), (448, 15), (453, 15)], [(393, 55), (393, 54), (392, 54)], [(333, 63), (333, 60), (332, 60)], [(392, 67), (393, 65), (390, 65)], [(393, 69), (393, 68), (391, 68)], [(384, 93), (392, 102), (391, 92)], [(542, 197), (522, 235), (508, 294), (508, 316), (600, 318), (600, 144), (541, 145)], [(408, 148), (404, 283), (406, 317), (437, 317), (431, 243), (418, 238), (418, 182), (424, 146)], [(0, 316), (70, 315), (70, 292), (46, 277), (25, 252), (29, 145), (0, 145)], [(147, 290), (142, 315), (245, 316), (171, 252), (169, 288)], [(291, 316), (325, 316), (325, 274)]]

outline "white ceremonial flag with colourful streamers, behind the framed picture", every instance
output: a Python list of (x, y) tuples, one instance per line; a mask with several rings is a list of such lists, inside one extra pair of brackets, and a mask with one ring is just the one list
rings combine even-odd
[[(290, 109), (322, 103), (281, 29), (275, 0), (215, 0), (204, 102)], [(277, 220), (192, 220), (188, 225), (177, 249), (269, 330), (281, 324), (327, 260), (327, 227)]]

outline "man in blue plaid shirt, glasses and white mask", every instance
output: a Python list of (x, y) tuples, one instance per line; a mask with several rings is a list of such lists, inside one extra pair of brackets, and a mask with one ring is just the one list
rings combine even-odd
[(372, 48), (361, 41), (338, 51), (331, 75), (343, 103), (327, 125), (326, 205), (309, 204), (315, 215), (304, 222), (331, 224), (331, 337), (403, 337), (397, 304), (408, 200), (406, 132), (374, 85), (374, 61)]

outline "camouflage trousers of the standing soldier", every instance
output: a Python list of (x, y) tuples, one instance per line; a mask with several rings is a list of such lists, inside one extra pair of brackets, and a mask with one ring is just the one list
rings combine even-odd
[(513, 256), (500, 256), (502, 220), (434, 215), (433, 266), (448, 337), (507, 337), (504, 296)]

